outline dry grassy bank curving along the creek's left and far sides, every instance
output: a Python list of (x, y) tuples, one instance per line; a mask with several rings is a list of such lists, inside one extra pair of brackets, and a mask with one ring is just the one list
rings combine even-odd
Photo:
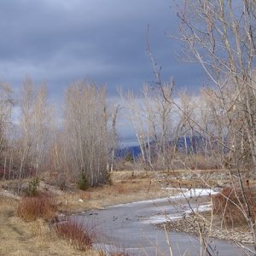
[[(59, 226), (56, 230), (52, 219), (55, 219), (60, 212), (69, 214), (170, 195), (170, 190), (162, 189), (163, 187), (205, 185), (197, 176), (189, 177), (189, 179), (183, 178), (188, 175), (189, 172), (186, 171), (113, 172), (111, 185), (106, 184), (86, 191), (77, 189), (76, 184), (70, 184), (70, 188), (66, 191), (44, 185), (40, 193), (50, 194), (50, 199), (43, 196), (43, 199), (39, 200), (26, 198), (17, 200), (0, 196), (0, 255), (63, 255), (63, 252), (65, 255), (104, 255), (104, 252), (92, 250), (89, 247), (84, 249), (83, 245), (77, 246), (78, 242), (84, 241), (83, 237), (76, 236), (81, 231), (81, 227), (69, 224), (68, 229)], [(211, 172), (204, 172), (200, 175), (210, 177)], [(209, 182), (216, 184), (213, 177), (209, 179)], [(1, 185), (4, 187), (7, 183), (2, 182)], [(44, 209), (44, 204), (49, 204), (46, 209)], [(29, 213), (38, 214), (36, 218), (33, 215), (27, 215), (26, 210), (30, 207)], [(35, 209), (34, 212), (32, 208)], [(73, 232), (67, 234), (71, 226)], [(69, 236), (73, 236), (78, 242), (71, 241)]]

